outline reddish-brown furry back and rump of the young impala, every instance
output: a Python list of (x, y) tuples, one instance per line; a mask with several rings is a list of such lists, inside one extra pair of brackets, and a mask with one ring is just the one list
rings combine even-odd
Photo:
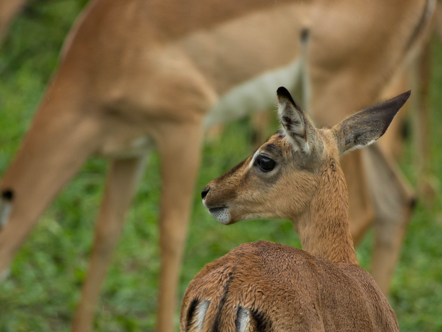
[[(260, 329), (247, 331), (399, 331), (396, 315), (368, 272), (333, 264), (279, 243), (242, 244), (206, 266), (191, 281), (188, 305), (210, 299), (202, 331), (235, 331), (239, 307)], [(251, 324), (251, 323), (249, 323)], [(181, 319), (180, 331), (192, 331)]]

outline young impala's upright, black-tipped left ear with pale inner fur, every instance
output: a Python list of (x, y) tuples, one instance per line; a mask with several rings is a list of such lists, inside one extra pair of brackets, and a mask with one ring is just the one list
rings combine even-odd
[(279, 87), (276, 94), (278, 95), (278, 117), (286, 138), (295, 151), (310, 155), (318, 142), (315, 126), (293, 101), (286, 88)]

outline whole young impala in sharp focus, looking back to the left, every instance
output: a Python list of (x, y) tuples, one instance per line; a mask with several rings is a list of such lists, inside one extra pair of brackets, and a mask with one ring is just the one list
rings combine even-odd
[(207, 264), (181, 307), (184, 331), (398, 331), (376, 282), (358, 266), (339, 157), (385, 133), (410, 91), (316, 129), (278, 89), (282, 129), (202, 191), (221, 224), (286, 218), (303, 250), (246, 243)]

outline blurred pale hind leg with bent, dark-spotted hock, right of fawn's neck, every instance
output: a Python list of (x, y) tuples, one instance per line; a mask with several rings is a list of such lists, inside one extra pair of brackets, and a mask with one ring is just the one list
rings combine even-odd
[(387, 295), (415, 196), (396, 163), (377, 144), (365, 149), (362, 157), (376, 208), (371, 274)]

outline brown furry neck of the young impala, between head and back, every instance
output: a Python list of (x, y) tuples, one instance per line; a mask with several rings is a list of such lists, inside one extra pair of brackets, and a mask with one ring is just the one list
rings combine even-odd
[(330, 158), (320, 171), (309, 212), (293, 223), (302, 249), (336, 264), (358, 264), (347, 205), (344, 174), (339, 162)]

